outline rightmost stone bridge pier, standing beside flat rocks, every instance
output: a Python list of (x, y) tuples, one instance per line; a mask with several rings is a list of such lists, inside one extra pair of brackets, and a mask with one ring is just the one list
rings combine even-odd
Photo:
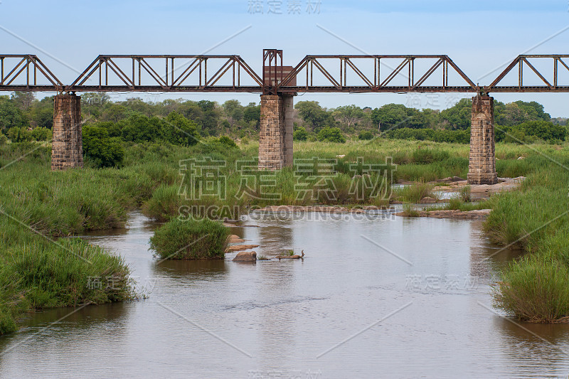
[(494, 147), (494, 98), (490, 96), (472, 97), (467, 178), (469, 184), (498, 183)]

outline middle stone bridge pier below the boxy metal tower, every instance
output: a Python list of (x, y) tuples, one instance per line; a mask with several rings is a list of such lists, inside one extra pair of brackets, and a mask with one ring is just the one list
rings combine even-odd
[(292, 166), (292, 95), (261, 95), (260, 170)]

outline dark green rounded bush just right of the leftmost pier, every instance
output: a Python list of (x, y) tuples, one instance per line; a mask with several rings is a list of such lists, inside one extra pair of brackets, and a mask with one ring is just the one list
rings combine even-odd
[(115, 167), (122, 164), (124, 147), (119, 139), (109, 137), (102, 127), (83, 127), (83, 154), (95, 167)]

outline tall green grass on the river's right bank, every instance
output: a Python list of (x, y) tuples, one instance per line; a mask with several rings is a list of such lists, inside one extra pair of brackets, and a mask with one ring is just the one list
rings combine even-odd
[[(567, 150), (550, 157), (569, 165)], [(569, 316), (569, 172), (544, 156), (523, 159), (531, 172), (521, 191), (491, 199), (484, 228), (491, 240), (527, 252), (501, 273), (496, 306), (523, 321), (559, 322)]]

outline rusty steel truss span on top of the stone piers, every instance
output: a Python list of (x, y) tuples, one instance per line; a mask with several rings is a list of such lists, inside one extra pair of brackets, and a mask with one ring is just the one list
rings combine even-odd
[(0, 55), (0, 91), (569, 92), (568, 63), (569, 55), (519, 55), (481, 86), (448, 55), (307, 55), (284, 66), (282, 50), (265, 49), (261, 75), (240, 55), (99, 55), (65, 85), (37, 55)]

